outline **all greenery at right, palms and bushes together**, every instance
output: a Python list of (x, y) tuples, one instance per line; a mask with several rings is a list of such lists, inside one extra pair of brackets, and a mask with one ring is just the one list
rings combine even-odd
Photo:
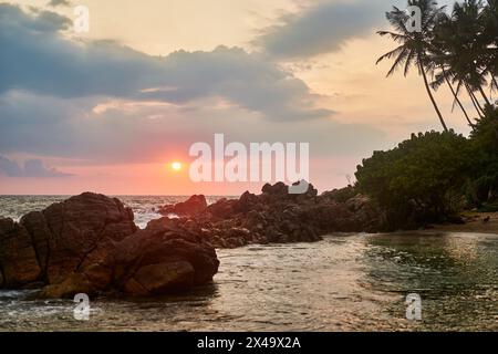
[[(418, 70), (444, 131), (413, 134), (394, 149), (375, 152), (357, 167), (354, 188), (372, 197), (393, 227), (447, 220), (464, 208), (495, 210), (498, 106), (491, 94), (498, 90), (498, 0), (456, 2), (452, 13), (432, 0), (409, 0), (408, 6), (422, 9), (422, 32), (408, 31), (405, 11), (387, 12), (395, 32), (378, 33), (398, 46), (378, 61), (394, 60), (387, 75)], [(443, 84), (473, 128), (469, 137), (448, 129), (433, 95)]]

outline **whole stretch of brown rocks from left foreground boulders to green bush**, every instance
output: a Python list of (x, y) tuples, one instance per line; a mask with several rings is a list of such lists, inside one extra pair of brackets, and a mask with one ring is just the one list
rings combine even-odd
[(367, 198), (338, 201), (266, 185), (260, 195), (204, 196), (163, 206), (163, 217), (143, 230), (116, 198), (85, 192), (19, 222), (0, 218), (0, 288), (40, 288), (41, 296), (75, 293), (147, 296), (185, 291), (212, 280), (215, 248), (249, 243), (313, 242), (329, 232), (375, 232), (378, 211)]

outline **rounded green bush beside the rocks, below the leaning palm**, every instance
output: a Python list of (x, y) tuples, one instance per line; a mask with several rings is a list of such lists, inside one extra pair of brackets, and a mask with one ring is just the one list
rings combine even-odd
[(464, 136), (453, 131), (413, 134), (396, 148), (364, 159), (356, 187), (387, 211), (391, 225), (436, 221), (459, 207), (471, 164)]

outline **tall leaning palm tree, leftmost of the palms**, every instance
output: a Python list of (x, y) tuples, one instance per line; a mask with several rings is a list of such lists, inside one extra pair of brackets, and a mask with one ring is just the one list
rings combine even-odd
[(418, 69), (418, 74), (424, 79), (424, 85), (427, 91), (427, 95), (437, 113), (443, 128), (447, 132), (445, 119), (440, 114), (436, 100), (430, 91), (427, 73), (432, 73), (434, 70), (434, 63), (430, 61), (427, 52), (430, 45), (430, 39), (433, 35), (433, 28), (436, 22), (436, 18), (443, 13), (444, 7), (438, 7), (434, 0), (408, 0), (408, 7), (418, 7), (422, 12), (422, 31), (411, 31), (406, 24), (411, 20), (411, 17), (406, 11), (400, 10), (393, 7), (393, 10), (386, 13), (387, 21), (395, 29), (395, 32), (378, 31), (382, 37), (391, 37), (400, 45), (391, 52), (382, 55), (377, 60), (377, 64), (386, 59), (394, 59), (394, 64), (387, 72), (387, 76), (391, 76), (397, 69), (404, 66), (404, 75), (408, 74), (409, 69), (415, 65)]

